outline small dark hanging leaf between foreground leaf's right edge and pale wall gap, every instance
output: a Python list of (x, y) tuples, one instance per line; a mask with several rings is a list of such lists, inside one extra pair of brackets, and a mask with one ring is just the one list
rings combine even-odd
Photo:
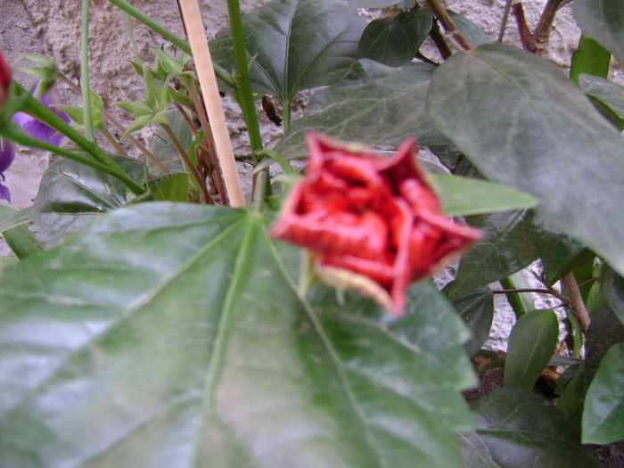
[(480, 288), (451, 298), (451, 303), (472, 333), (471, 340), (464, 344), (468, 356), (472, 356), (488, 341), (494, 320), (494, 294), (489, 288)]

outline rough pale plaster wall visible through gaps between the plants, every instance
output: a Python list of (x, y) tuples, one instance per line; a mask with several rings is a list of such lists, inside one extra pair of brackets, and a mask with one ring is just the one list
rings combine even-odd
[[(255, 5), (267, 3), (267, 0), (242, 1), (242, 10), (249, 11)], [(524, 2), (524, 12), (530, 29), (535, 28), (546, 0)], [(176, 0), (134, 0), (134, 6), (165, 25), (168, 29), (183, 36)], [(505, 0), (448, 0), (447, 6), (477, 22), (482, 29), (495, 39), (505, 7)], [(379, 12), (370, 12), (376, 17)], [(203, 1), (204, 24), (207, 36), (214, 37), (227, 23), (226, 0)], [(135, 38), (139, 53), (146, 61), (151, 61), (150, 46), (160, 46), (164, 40), (152, 30), (137, 21), (133, 21)], [(21, 61), (21, 54), (45, 54), (53, 57), (59, 68), (74, 81), (80, 73), (79, 35), (80, 2), (78, 0), (0, 0), (0, 46), (8, 55), (12, 65), (26, 65)], [(119, 9), (107, 0), (93, 0), (91, 19), (91, 84), (94, 91), (103, 97), (106, 105), (115, 101), (132, 101), (143, 95), (142, 80), (137, 78), (132, 66), (127, 62), (133, 59), (126, 26)], [(546, 58), (562, 68), (569, 66), (571, 53), (579, 42), (579, 29), (571, 18), (570, 5), (557, 14), (550, 37)], [(520, 46), (518, 29), (513, 17), (510, 17), (505, 29), (505, 43)], [(614, 73), (619, 73), (619, 70)], [(23, 73), (17, 73), (23, 85), (32, 85), (33, 79)], [(67, 86), (60, 90), (66, 103), (78, 105), (79, 96), (73, 94)], [(305, 94), (302, 98), (305, 101)], [(111, 109), (121, 119), (123, 112)], [(267, 144), (275, 143), (280, 130), (264, 118), (263, 137)], [(293, 118), (296, 118), (295, 111)], [(234, 152), (237, 155), (249, 154), (249, 141), (242, 122), (240, 111), (230, 101), (226, 101), (226, 117), (233, 137)], [(150, 130), (144, 131), (144, 139), (150, 137)], [(37, 185), (45, 168), (49, 164), (49, 155), (40, 152), (21, 150), (15, 163), (7, 173), (7, 185), (13, 194), (12, 206), (24, 208), (31, 204), (37, 194)], [(6, 250), (0, 250), (0, 253)], [(507, 315), (511, 312), (507, 311)], [(493, 331), (492, 346), (505, 348), (505, 338), (513, 318), (498, 316)]]

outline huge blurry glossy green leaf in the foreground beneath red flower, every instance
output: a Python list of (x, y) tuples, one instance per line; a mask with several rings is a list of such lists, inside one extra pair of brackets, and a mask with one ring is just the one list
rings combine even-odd
[(401, 320), (357, 294), (313, 307), (266, 225), (144, 203), (10, 267), (0, 466), (461, 466), (473, 376), (439, 291), (415, 285)]

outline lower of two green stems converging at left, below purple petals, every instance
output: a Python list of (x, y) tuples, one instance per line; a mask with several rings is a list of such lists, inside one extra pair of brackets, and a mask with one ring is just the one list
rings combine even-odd
[(127, 188), (129, 188), (136, 195), (140, 195), (145, 192), (144, 187), (138, 185), (135, 180), (128, 176), (122, 168), (119, 168), (119, 166), (115, 165), (115, 167), (111, 167), (97, 160), (92, 160), (91, 158), (83, 156), (82, 154), (78, 154), (77, 152), (71, 152), (65, 148), (61, 148), (54, 144), (39, 140), (38, 138), (34, 138), (24, 133), (21, 128), (13, 122), (8, 122), (4, 125), (2, 128), (2, 135), (18, 144), (23, 144), (24, 146), (34, 146), (45, 151), (53, 152), (54, 154), (60, 154), (70, 160), (75, 160), (91, 168), (101, 170), (102, 172), (119, 179), (119, 181), (126, 185)]

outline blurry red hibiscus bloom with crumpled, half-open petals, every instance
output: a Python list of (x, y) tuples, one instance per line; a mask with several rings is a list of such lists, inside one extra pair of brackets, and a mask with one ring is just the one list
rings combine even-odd
[(440, 211), (409, 138), (386, 158), (308, 133), (306, 177), (270, 234), (308, 248), (322, 279), (357, 288), (396, 316), (409, 283), (480, 239)]

